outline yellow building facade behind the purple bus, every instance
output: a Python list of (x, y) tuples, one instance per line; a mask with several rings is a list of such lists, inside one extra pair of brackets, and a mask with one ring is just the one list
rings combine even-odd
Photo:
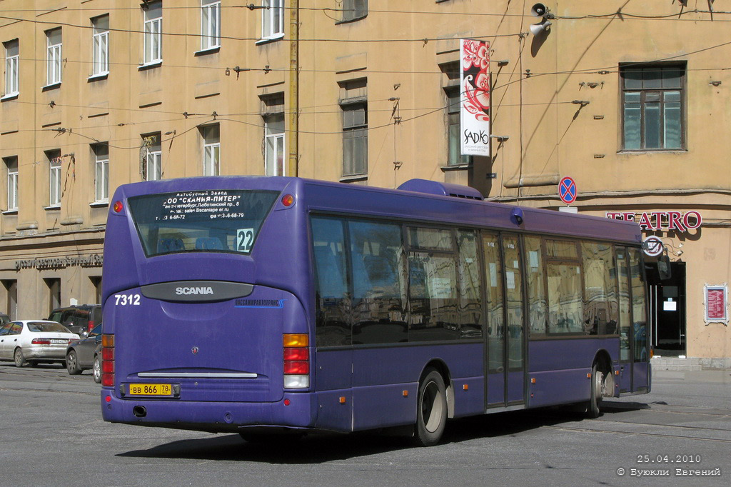
[[(99, 301), (119, 184), (425, 178), (558, 211), (569, 176), (577, 199), (564, 209), (635, 219), (662, 241), (673, 277), (659, 281), (647, 259), (656, 350), (731, 357), (726, 294), (708, 287), (725, 292), (731, 276), (731, 12), (705, 0), (533, 7), (0, 1), (0, 311)], [(460, 39), (489, 43), (490, 156), (458, 154)]]

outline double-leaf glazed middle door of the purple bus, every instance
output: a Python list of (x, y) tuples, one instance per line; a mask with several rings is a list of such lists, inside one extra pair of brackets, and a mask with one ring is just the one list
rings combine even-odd
[[(501, 257), (501, 247), (505, 260)], [(517, 235), (505, 235), (501, 245), (498, 234), (482, 233), (482, 254), (487, 301), (487, 404), (488, 407), (504, 407), (509, 402), (523, 401), (524, 331)]]

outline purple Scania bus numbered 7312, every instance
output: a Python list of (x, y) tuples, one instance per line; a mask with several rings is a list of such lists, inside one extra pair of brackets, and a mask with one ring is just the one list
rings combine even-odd
[(120, 186), (102, 414), (244, 439), (413, 426), (650, 390), (637, 224), (230, 176)]

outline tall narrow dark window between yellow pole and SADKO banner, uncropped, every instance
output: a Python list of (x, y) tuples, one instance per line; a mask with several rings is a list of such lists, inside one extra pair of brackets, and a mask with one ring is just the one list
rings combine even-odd
[(341, 83), (343, 175), (368, 174), (368, 91), (366, 80)]

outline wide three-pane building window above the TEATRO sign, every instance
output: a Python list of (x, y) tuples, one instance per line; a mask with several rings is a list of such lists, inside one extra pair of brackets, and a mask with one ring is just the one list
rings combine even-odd
[(681, 64), (620, 68), (624, 150), (684, 148), (685, 71)]

